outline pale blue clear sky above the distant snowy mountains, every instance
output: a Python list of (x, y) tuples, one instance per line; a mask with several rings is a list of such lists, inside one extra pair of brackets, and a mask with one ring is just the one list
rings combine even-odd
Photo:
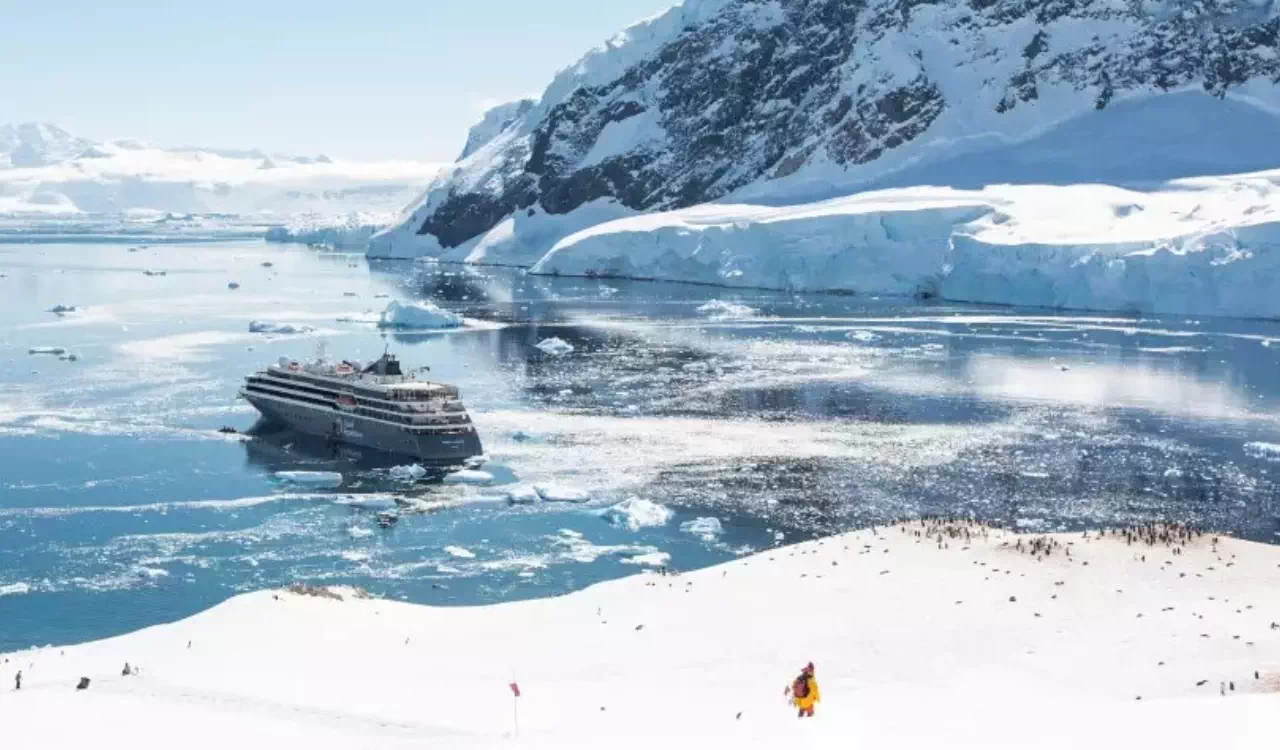
[(676, 0), (0, 0), (0, 123), (90, 138), (452, 161)]

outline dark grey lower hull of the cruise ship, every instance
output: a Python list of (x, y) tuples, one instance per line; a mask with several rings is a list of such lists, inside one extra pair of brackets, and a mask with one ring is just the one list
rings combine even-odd
[(438, 466), (461, 465), (467, 458), (480, 456), (484, 448), (480, 436), (467, 434), (415, 433), (398, 425), (346, 413), (337, 408), (323, 410), (244, 393), (264, 417), (308, 435), (319, 435), (348, 445), (372, 448), (384, 453), (399, 453)]

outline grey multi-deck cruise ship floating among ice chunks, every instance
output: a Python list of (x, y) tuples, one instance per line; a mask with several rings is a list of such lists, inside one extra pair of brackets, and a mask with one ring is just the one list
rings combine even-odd
[(301, 433), (424, 463), (461, 465), (483, 453), (458, 389), (404, 374), (389, 353), (369, 366), (282, 357), (246, 378), (241, 397)]

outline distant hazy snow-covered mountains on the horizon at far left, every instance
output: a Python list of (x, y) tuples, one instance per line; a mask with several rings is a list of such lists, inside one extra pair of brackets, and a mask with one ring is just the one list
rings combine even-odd
[(417, 161), (95, 142), (45, 123), (0, 127), (0, 214), (394, 212), (438, 170)]

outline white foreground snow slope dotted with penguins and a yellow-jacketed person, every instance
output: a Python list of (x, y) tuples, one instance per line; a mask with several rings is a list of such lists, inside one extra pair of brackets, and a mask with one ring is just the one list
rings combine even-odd
[[(1280, 731), (1280, 549), (1064, 535), (1069, 557), (1037, 557), (1000, 531), (916, 531), (493, 607), (248, 594), (5, 655), (5, 680), (26, 677), (0, 691), (5, 740), (1078, 750), (1265, 747)], [(782, 691), (809, 660), (822, 701), (799, 722)], [(123, 677), (125, 662), (140, 673)]]

